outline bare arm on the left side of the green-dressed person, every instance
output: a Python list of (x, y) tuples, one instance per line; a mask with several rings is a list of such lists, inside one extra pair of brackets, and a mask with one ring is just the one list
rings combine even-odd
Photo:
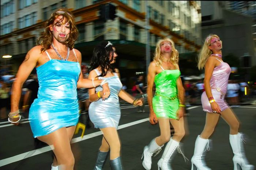
[(151, 62), (150, 65), (148, 66), (148, 74), (147, 74), (147, 101), (150, 109), (149, 117), (150, 117), (150, 123), (151, 124), (156, 124), (157, 121), (157, 116), (154, 113), (153, 110), (153, 105), (152, 105), (152, 99), (153, 99), (153, 93), (152, 93), (152, 88), (154, 84), (154, 79), (155, 79), (155, 62)]

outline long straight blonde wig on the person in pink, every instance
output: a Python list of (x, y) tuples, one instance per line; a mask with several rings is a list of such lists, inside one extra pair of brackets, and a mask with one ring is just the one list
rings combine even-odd
[(212, 54), (212, 51), (209, 49), (212, 38), (219, 38), (219, 36), (215, 34), (210, 34), (204, 40), (203, 48), (201, 49), (197, 57), (197, 67), (199, 70), (202, 70), (204, 68), (207, 58), (210, 57)]

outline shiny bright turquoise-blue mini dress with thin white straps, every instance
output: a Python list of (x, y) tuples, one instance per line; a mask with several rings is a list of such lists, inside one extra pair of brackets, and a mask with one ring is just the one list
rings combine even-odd
[[(29, 110), (29, 122), (34, 137), (48, 135), (59, 128), (78, 123), (79, 108), (76, 84), (80, 64), (51, 59), (37, 67), (39, 89)], [(75, 51), (73, 49), (75, 54)]]

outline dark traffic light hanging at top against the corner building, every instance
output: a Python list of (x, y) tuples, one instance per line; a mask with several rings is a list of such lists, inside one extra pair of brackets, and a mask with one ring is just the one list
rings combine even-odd
[(102, 4), (100, 6), (99, 14), (101, 20), (114, 20), (116, 18), (116, 6), (110, 3)]

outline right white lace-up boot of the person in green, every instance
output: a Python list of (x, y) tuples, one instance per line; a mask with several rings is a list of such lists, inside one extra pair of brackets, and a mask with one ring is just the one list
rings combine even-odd
[[(159, 161), (157, 162), (158, 170), (172, 170), (172, 167), (170, 166), (170, 162), (174, 156), (174, 153), (176, 152), (176, 149), (178, 153), (182, 154), (180, 149), (180, 143), (171, 138), (165, 146), (165, 150), (163, 151), (162, 158), (159, 159)], [(182, 156), (184, 157), (184, 159), (186, 158), (183, 154)]]

